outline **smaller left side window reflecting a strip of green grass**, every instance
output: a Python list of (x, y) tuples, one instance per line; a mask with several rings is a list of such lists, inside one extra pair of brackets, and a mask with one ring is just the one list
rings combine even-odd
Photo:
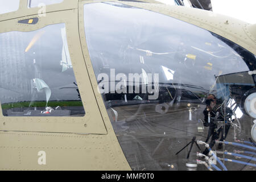
[(65, 24), (0, 34), (0, 102), (5, 116), (83, 116)]

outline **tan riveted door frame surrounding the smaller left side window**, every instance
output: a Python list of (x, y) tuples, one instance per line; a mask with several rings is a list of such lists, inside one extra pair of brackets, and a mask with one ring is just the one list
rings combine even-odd
[[(3, 116), (0, 105), (0, 130), (47, 133), (107, 134), (104, 122), (92, 91), (86, 71), (79, 39), (77, 9), (47, 13), (46, 16), (26, 16), (0, 22), (0, 33), (10, 31), (30, 32), (51, 24), (65, 23), (69, 54), (73, 72), (79, 86), (84, 117), (15, 117)], [(19, 20), (38, 18), (36, 24), (18, 23)]]

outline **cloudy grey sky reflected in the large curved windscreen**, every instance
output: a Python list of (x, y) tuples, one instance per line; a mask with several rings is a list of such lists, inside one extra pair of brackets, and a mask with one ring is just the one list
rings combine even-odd
[[(126, 75), (144, 69), (159, 73), (159, 82), (210, 90), (215, 76), (249, 71), (243, 58), (211, 32), (170, 16), (107, 3), (85, 5), (84, 11), (96, 77), (111, 68)], [(163, 68), (174, 72), (173, 79)]]

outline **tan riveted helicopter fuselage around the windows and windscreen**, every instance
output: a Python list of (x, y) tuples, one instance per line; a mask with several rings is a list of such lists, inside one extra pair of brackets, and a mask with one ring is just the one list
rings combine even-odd
[[(97, 92), (98, 84), (86, 45), (83, 6), (96, 2), (102, 1), (64, 0), (47, 5), (43, 12), (42, 7), (28, 9), (27, 0), (21, 0), (17, 11), (0, 14), (0, 34), (35, 31), (49, 24), (65, 23), (68, 49), (85, 109), (84, 117), (5, 117), (1, 111), (1, 170), (131, 169), (118, 143), (101, 94)], [(194, 24), (256, 55), (256, 26), (251, 24), (211, 11), (153, 1), (117, 2)], [(38, 18), (38, 22), (18, 23), (33, 18)]]

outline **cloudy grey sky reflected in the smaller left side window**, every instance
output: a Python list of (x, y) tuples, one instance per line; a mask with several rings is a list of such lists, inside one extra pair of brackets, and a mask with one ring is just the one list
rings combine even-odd
[[(45, 101), (46, 93), (32, 98), (32, 79), (40, 78), (51, 89), (51, 100), (79, 100), (73, 69), (62, 72), (64, 23), (32, 32), (0, 34), (0, 101)], [(67, 50), (68, 51), (68, 50)], [(68, 87), (68, 88), (67, 88)], [(65, 89), (61, 89), (65, 88)], [(35, 88), (34, 88), (35, 89)]]

